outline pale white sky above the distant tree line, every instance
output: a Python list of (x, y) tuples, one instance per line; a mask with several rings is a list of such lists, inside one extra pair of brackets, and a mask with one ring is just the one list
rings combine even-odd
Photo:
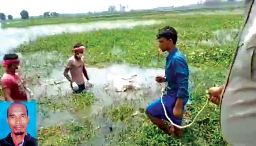
[(0, 5), (0, 12), (5, 15), (12, 15), (20, 18), (20, 11), (25, 9), (29, 16), (43, 15), (44, 12), (58, 13), (87, 13), (108, 11), (109, 5), (115, 5), (117, 11), (120, 5), (127, 6), (126, 10), (131, 9), (151, 9), (157, 7), (178, 7), (182, 5), (196, 4), (200, 0), (3, 0)]

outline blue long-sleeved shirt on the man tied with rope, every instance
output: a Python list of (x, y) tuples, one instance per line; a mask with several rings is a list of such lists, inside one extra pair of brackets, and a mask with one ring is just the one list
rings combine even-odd
[(181, 99), (189, 98), (189, 69), (185, 57), (178, 49), (172, 50), (166, 57), (165, 76), (167, 95)]

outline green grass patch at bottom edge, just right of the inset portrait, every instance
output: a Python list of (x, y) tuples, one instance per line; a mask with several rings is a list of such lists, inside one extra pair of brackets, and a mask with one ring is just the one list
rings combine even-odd
[(38, 143), (41, 146), (77, 146), (95, 135), (93, 123), (84, 119), (83, 123), (64, 124), (38, 129)]

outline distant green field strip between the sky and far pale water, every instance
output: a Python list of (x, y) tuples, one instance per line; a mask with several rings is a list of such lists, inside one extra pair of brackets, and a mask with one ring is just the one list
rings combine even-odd
[(148, 17), (151, 18), (161, 18), (165, 17), (166, 15), (184, 15), (187, 13), (195, 13), (196, 14), (202, 14), (204, 13), (212, 13), (214, 14), (220, 14), (223, 15), (222, 12), (224, 13), (236, 13), (240, 12), (240, 8), (203, 8), (203, 9), (189, 9), (189, 10), (172, 10), (172, 11), (135, 11), (135, 12), (124, 12), (124, 13), (103, 13), (103, 14), (94, 14), (94, 15), (82, 15), (82, 16), (65, 16), (65, 15), (60, 15), (58, 17), (52, 17), (52, 18), (44, 18), (43, 16), (41, 17), (34, 17), (34, 18), (29, 18), (28, 13), (25, 11), (22, 11), (22, 15), (26, 19), (17, 19), (17, 20), (11, 20), (11, 21), (4, 21), (1, 22), (1, 27), (2, 28), (7, 28), (7, 27), (28, 27), (28, 26), (37, 26), (37, 25), (44, 25), (44, 24), (60, 24), (60, 23), (86, 23), (86, 22), (93, 22), (93, 21), (101, 21), (101, 20), (127, 20), (127, 19), (138, 19), (138, 20), (146, 20)]

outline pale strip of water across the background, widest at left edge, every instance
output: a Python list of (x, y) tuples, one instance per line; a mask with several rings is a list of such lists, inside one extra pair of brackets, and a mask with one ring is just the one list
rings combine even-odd
[(4, 28), (0, 23), (0, 60), (5, 53), (10, 53), (22, 43), (35, 41), (38, 37), (74, 32), (88, 32), (99, 29), (132, 28), (139, 25), (153, 25), (161, 23), (158, 20), (136, 21), (136, 20), (113, 20), (98, 21), (90, 23), (66, 23), (41, 26), (30, 26), (24, 28)]

